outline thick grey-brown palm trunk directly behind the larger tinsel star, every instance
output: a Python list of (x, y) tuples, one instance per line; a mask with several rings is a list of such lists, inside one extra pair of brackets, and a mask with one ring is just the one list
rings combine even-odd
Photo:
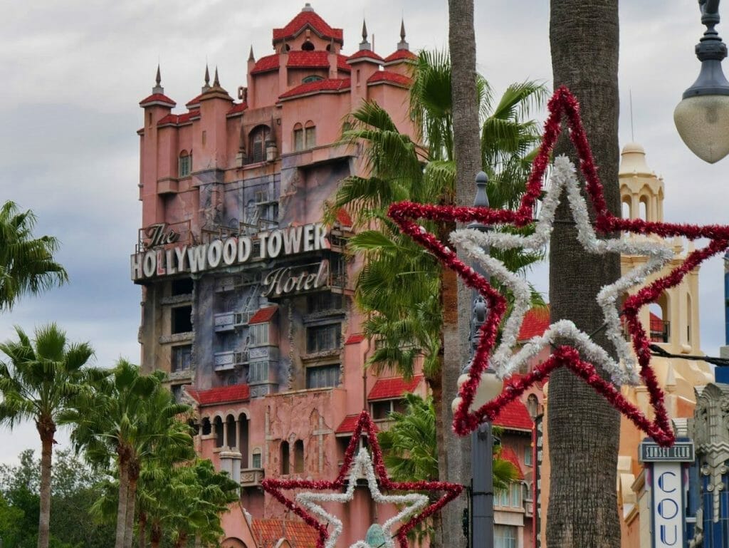
[[(620, 215), (617, 186), (617, 0), (551, 2), (554, 86), (580, 101), (609, 209)], [(574, 149), (566, 134), (555, 155)], [(577, 163), (577, 162), (575, 162)], [(563, 201), (557, 219), (572, 221)], [(596, 295), (620, 275), (620, 258), (586, 255), (573, 225), (555, 223), (550, 242), (552, 320), (567, 318), (591, 333), (603, 323)], [(607, 348), (604, 336), (595, 336)], [(604, 376), (604, 372), (601, 372)], [(574, 374), (550, 375), (547, 440), (551, 461), (547, 545), (620, 547), (615, 493), (620, 415)]]

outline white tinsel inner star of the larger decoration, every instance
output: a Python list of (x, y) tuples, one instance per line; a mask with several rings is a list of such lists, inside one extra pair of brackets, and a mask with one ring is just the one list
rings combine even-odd
[[(567, 190), (569, 207), (572, 210), (575, 225), (577, 225), (577, 239), (586, 252), (596, 255), (616, 252), (647, 257), (644, 264), (629, 271), (625, 276), (617, 279), (616, 282), (605, 285), (597, 295), (597, 302), (603, 310), (605, 323), (607, 324), (607, 337), (615, 347), (615, 352), (617, 352), (617, 362), (605, 350), (595, 344), (587, 333), (580, 331), (569, 320), (559, 320), (553, 323), (542, 336), (532, 337), (521, 350), (516, 353), (513, 352), (524, 314), (530, 307), (531, 291), (525, 279), (507, 270), (501, 261), (486, 255), (483, 252), (483, 247), (491, 246), (503, 250), (518, 248), (525, 250), (543, 249), (550, 239), (555, 210), (563, 188)], [(513, 293), (514, 306), (512, 313), (504, 325), (501, 343), (491, 355), (491, 367), (494, 368), (499, 378), (509, 377), (523, 364), (526, 364), (530, 358), (537, 355), (543, 347), (556, 344), (560, 339), (562, 341), (571, 341), (585, 360), (608, 371), (615, 385), (622, 385), (623, 383), (639, 384), (635, 358), (630, 347), (628, 347), (628, 343), (623, 338), (617, 305), (623, 293), (636, 285), (643, 284), (650, 274), (662, 269), (673, 258), (674, 251), (661, 240), (648, 239), (643, 236), (613, 239), (597, 238), (590, 223), (587, 204), (585, 204), (585, 199), (580, 193), (580, 184), (577, 181), (574, 165), (566, 156), (560, 156), (555, 160), (551, 185), (542, 201), (542, 209), (539, 212), (534, 234), (518, 236), (497, 231), (480, 232), (473, 228), (465, 228), (453, 231), (451, 233), (451, 242), (460, 245), (469, 257), (478, 261), (488, 274), (498, 278)]]

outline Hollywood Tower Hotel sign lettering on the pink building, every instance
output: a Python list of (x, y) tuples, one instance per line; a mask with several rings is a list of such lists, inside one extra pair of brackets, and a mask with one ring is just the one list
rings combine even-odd
[[(165, 233), (163, 227), (155, 225), (153, 228), (149, 234), (152, 242), (163, 244), (175, 242), (174, 236)], [(255, 255), (254, 242), (260, 243)], [(198, 274), (226, 266), (238, 266), (254, 259), (274, 259), (329, 248), (327, 228), (322, 223), (260, 232), (253, 237), (230, 236), (226, 239), (213, 240), (208, 244), (148, 248), (131, 256), (131, 278), (137, 282), (183, 272)], [(307, 281), (310, 274), (291, 282), (289, 273), (282, 271), (275, 282), (271, 279), (269, 283), (273, 282), (276, 293), (279, 287), (282, 293), (288, 293), (285, 287), (291, 286), (292, 283), (294, 287), (313, 284), (313, 280)], [(316, 279), (321, 277), (321, 272), (319, 274)]]

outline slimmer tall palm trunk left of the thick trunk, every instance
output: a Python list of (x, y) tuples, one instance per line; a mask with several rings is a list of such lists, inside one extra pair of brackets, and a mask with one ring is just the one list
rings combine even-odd
[[(451, 94), (453, 97), (453, 153), (456, 157), (456, 204), (472, 205), (475, 177), (480, 170), (478, 98), (476, 92), (476, 38), (473, 0), (448, 0), (448, 47), (451, 50)], [(457, 392), (461, 369), (468, 360), (471, 296), (452, 271), (443, 285), (443, 412), (451, 424), (450, 402)], [(448, 481), (467, 485), (471, 479), (469, 437), (459, 438), (448, 428)], [(452, 547), (465, 546), (461, 527), (465, 501), (449, 504), (443, 514), (443, 539)]]

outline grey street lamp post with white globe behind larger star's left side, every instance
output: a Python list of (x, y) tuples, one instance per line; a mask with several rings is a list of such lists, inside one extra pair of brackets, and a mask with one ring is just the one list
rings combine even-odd
[[(483, 171), (476, 175), (476, 197), (474, 206), (488, 207), (486, 196), (486, 183), (488, 177)], [(488, 231), (489, 228), (481, 223), (471, 223), (468, 228), (478, 231)], [(484, 249), (488, 254), (488, 248)], [(472, 264), (472, 268), (488, 279), (479, 263)], [(475, 349), (480, 339), (481, 325), (486, 321), (487, 306), (483, 296), (473, 291), (471, 315), (471, 358), (464, 368), (464, 374), (459, 378), (459, 388), (468, 378), (467, 372), (471, 366)], [(482, 374), (482, 380), (474, 398), (473, 405), (478, 408), (487, 401), (496, 397), (502, 390), (502, 382), (496, 379), (494, 371), (490, 368)], [(459, 404), (460, 398), (453, 401), (453, 408)], [(491, 435), (491, 424), (483, 422), (471, 434), (471, 534), (469, 543), (471, 548), (491, 548), (494, 546), (494, 437)]]

